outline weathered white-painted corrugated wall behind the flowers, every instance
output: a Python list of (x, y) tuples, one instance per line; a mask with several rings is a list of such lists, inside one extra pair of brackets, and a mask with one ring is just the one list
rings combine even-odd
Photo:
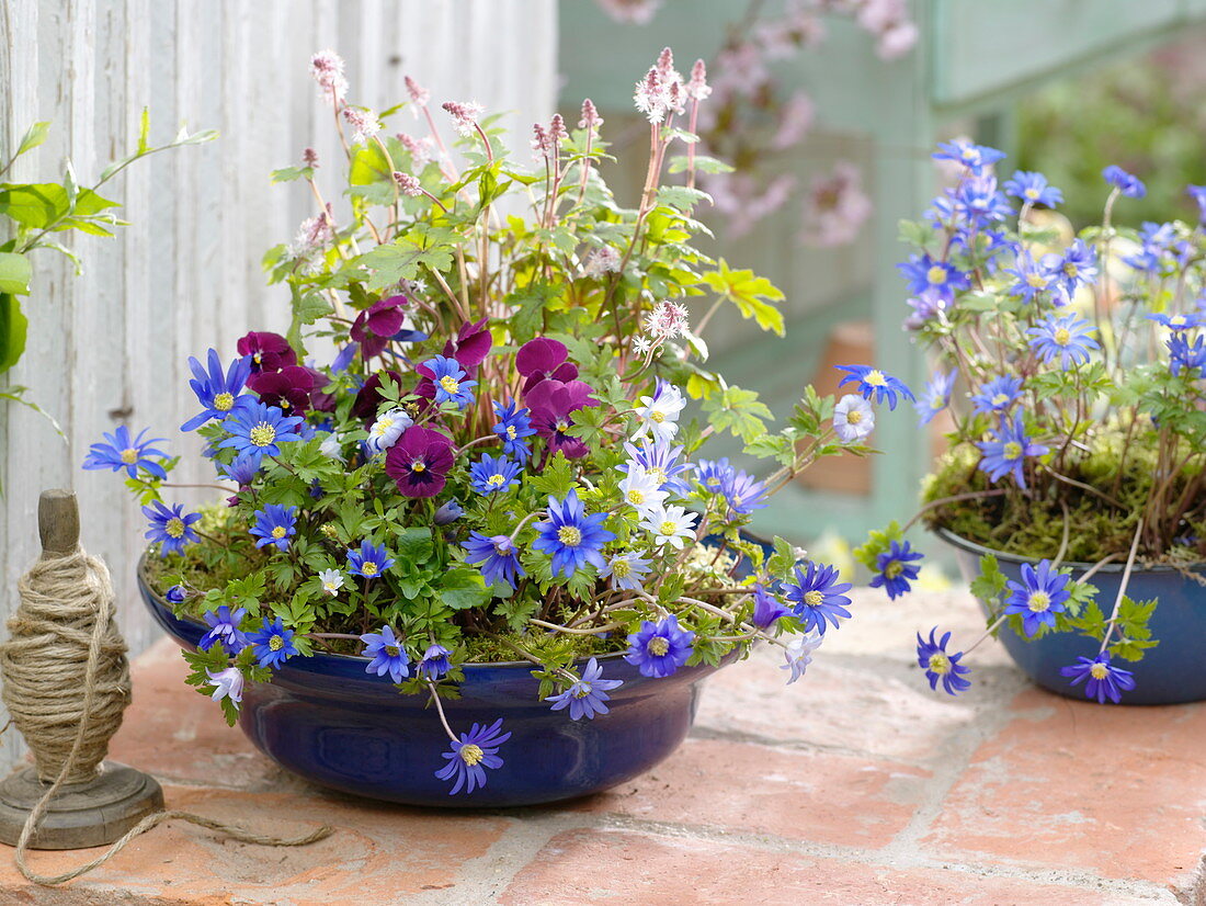
[[(29, 349), (8, 378), (31, 387), (68, 442), (23, 408), (0, 409), (0, 615), (14, 607), (17, 577), (37, 553), (39, 491), (74, 487), (83, 544), (113, 573), (122, 631), (134, 650), (156, 636), (133, 585), (144, 520), (121, 477), (81, 472), (80, 462), (122, 422), (151, 426), (174, 450), (191, 451), (176, 431), (194, 409), (186, 358), (211, 345), (233, 353), (247, 329), (286, 325), (259, 261), (292, 238), (314, 204), (298, 185), (274, 187), (268, 175), (297, 163), (308, 145), (335, 159), (330, 111), (308, 75), (310, 53), (327, 47), (347, 60), (351, 100), (377, 110), (405, 99), (409, 74), (433, 103), (475, 99), (488, 111), (515, 111), (508, 125), (520, 146), (529, 124), (552, 112), (555, 0), (0, 4), (0, 154), (7, 158), (29, 123), (54, 121), (13, 179), (60, 179), (68, 158), (82, 180), (94, 179), (133, 147), (144, 105), (154, 139), (170, 138), (181, 121), (222, 133), (139, 162), (107, 187), (131, 226), (116, 239), (68, 240), (83, 276), (52, 252), (36, 253)], [(408, 112), (391, 124), (425, 131)], [(334, 183), (327, 194), (336, 195)], [(192, 463), (176, 480), (205, 481), (206, 472)], [(16, 755), (13, 736), (0, 760)]]

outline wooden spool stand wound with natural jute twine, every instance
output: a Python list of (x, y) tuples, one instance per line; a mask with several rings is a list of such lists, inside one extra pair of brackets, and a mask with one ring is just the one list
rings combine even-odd
[[(35, 568), (30, 571), (31, 574), (39, 566), (53, 567), (54, 561), (84, 556), (80, 550), (80, 509), (75, 495), (70, 491), (42, 492), (37, 504), (37, 528), (42, 540), (42, 555)], [(94, 563), (104, 569), (104, 565), (99, 561), (94, 561)], [(96, 578), (104, 585), (96, 594), (105, 595), (107, 592), (111, 600), (112, 591), (109, 586), (107, 571)], [(45, 814), (30, 835), (28, 846), (33, 849), (82, 849), (105, 846), (133, 829), (146, 816), (164, 807), (163, 790), (153, 777), (116, 761), (100, 760), (104, 759), (109, 749), (109, 740), (121, 726), (121, 712), (130, 701), (125, 643), (113, 625), (112, 608), (107, 609), (109, 613), (96, 613), (92, 622), (105, 620), (109, 625), (88, 626), (87, 619), (75, 619), (64, 624), (64, 631), (74, 636), (70, 639), (47, 638), (45, 618), (29, 614), (24, 598), (13, 619), (10, 620), (11, 637), (0, 650), (5, 700), (12, 714), (12, 723), (21, 730), (34, 750), (35, 759), (39, 760), (0, 782), (0, 841), (8, 846), (17, 846), (30, 813), (63, 772), (66, 755), (72, 749), (70, 744), (66, 750), (62, 744), (57, 747), (58, 750), (47, 750), (45, 746), (40, 746), (39, 732), (45, 726), (46, 717), (36, 714), (36, 712), (27, 715), (8, 701), (8, 694), (19, 688), (17, 685), (19, 682), (28, 682), (31, 671), (75, 670), (78, 676), (78, 701), (75, 705), (76, 707), (83, 706), (87, 680), (92, 679), (94, 690), (99, 683), (104, 682), (99, 677), (86, 677), (87, 637), (94, 632), (107, 637), (105, 639), (107, 644), (104, 647), (105, 656), (100, 667), (106, 677), (118, 677), (119, 685), (116, 694), (112, 688), (107, 690), (109, 711), (116, 709), (116, 718), (112, 713), (106, 714), (104, 723), (92, 721), (93, 726), (86, 729), (86, 733), (90, 738), (81, 748), (98, 753), (99, 759), (95, 755), (88, 758), (88, 753), (84, 752), (83, 759), (76, 759), (80, 764), (68, 765), (72, 768), (71, 773), (63, 777), (53, 799), (45, 807)], [(82, 651), (80, 649), (81, 635), (84, 636)], [(18, 672), (24, 676), (18, 678)], [(110, 682), (112, 684), (112, 680)], [(121, 688), (122, 685), (124, 688)], [(122, 695), (122, 692), (124, 694)], [(95, 695), (88, 697), (95, 697)], [(36, 702), (34, 705), (36, 707)], [(49, 705), (46, 702), (42, 707), (46, 708)], [(70, 711), (72, 702), (63, 702), (62, 705), (65, 705), (65, 709)], [(87, 721), (90, 715), (83, 713), (80, 717)], [(55, 730), (60, 737), (65, 733), (74, 737), (76, 724), (71, 723), (70, 715), (65, 720), (65, 725), (58, 726)], [(63, 724), (63, 721), (64, 718), (60, 718), (59, 723)], [(93, 764), (87, 764), (87, 761), (93, 761)]]

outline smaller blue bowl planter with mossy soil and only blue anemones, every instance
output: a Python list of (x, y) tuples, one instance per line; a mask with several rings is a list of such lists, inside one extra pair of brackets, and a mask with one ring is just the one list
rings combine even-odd
[[(979, 559), (994, 554), (1001, 572), (1021, 581), (1021, 565), (1034, 563), (1029, 557), (1002, 554), (948, 532), (937, 536), (949, 544), (959, 561), (959, 569), (968, 581), (979, 573)], [(1088, 563), (1066, 563), (1072, 578), (1089, 569)], [(1107, 563), (1090, 583), (1100, 590), (1099, 603), (1108, 614), (1122, 584), (1123, 566)], [(1206, 565), (1195, 567), (1206, 577)], [(1135, 689), (1123, 694), (1124, 705), (1176, 705), (1206, 700), (1206, 585), (1170, 567), (1132, 569), (1126, 595), (1134, 601), (1158, 598), (1159, 603), (1149, 624), (1155, 648), (1143, 653), (1137, 664), (1119, 662), (1135, 673)], [(1094, 657), (1099, 643), (1085, 636), (1059, 632), (1028, 642), (1007, 625), (1001, 627), (1001, 643), (1021, 671), (1043, 689), (1073, 699), (1083, 699), (1083, 686), (1069, 685), (1060, 667), (1076, 664), (1078, 656)]]

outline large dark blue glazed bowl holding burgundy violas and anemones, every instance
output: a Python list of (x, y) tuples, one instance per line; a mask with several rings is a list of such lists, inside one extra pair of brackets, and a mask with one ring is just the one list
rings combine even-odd
[[(195, 649), (207, 627), (176, 618), (141, 568), (137, 580), (156, 621)], [(427, 697), (399, 695), (388, 677), (364, 672), (364, 657), (291, 657), (271, 683), (246, 684), (239, 725), (282, 767), (359, 796), (470, 808), (554, 802), (624, 783), (674, 752), (695, 720), (703, 679), (718, 670), (684, 667), (650, 679), (621, 654), (599, 661), (624, 685), (610, 694), (609, 713), (593, 720), (550, 711), (527, 662), (464, 665), (462, 697), (441, 702), (452, 729), (503, 718), (511, 733), (499, 752), (503, 766), (469, 795), (450, 796), (451, 782), (435, 777), (449, 741)]]

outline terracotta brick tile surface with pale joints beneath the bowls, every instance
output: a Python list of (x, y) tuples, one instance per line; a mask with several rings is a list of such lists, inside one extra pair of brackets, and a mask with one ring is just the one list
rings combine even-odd
[[(260, 756), (180, 682), (168, 641), (137, 659), (112, 756), (170, 806), (298, 849), (163, 825), (63, 889), (6, 865), (2, 904), (1187, 904), (1206, 906), (1206, 705), (1105, 708), (1038, 691), (991, 645), (964, 697), (930, 692), (915, 627), (968, 638), (959, 594), (860, 591), (856, 621), (783, 689), (773, 653), (710, 680), (667, 762), (563, 807), (439, 813), (327, 793)], [(39, 853), (59, 870), (92, 853)]]

